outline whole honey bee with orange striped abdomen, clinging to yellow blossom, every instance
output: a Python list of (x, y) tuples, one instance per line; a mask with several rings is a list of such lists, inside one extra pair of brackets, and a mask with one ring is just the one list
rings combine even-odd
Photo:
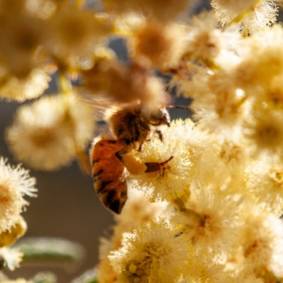
[[(150, 115), (144, 114), (140, 104), (128, 105), (117, 110), (108, 119), (115, 139), (100, 139), (93, 144), (91, 160), (93, 163), (94, 187), (101, 202), (112, 212), (120, 214), (127, 201), (127, 175), (130, 173), (151, 173), (162, 168), (163, 163), (140, 163), (127, 155), (133, 150), (141, 150), (149, 139), (151, 126), (167, 125), (170, 117), (166, 108), (159, 108)], [(158, 132), (158, 131), (156, 131)], [(158, 132), (159, 138), (162, 135)]]

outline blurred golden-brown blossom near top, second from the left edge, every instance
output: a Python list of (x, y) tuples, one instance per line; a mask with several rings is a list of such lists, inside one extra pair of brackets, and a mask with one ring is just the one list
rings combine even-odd
[(84, 11), (65, 2), (57, 13), (48, 18), (49, 37), (47, 49), (63, 62), (76, 64), (76, 57), (89, 57), (93, 45), (101, 36), (110, 32), (107, 19), (96, 17), (91, 11)]

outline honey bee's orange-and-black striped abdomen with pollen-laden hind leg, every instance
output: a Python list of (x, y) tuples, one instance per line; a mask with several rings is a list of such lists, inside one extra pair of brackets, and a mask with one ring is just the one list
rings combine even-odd
[[(121, 213), (127, 201), (126, 168), (134, 174), (151, 173), (159, 170), (163, 174), (165, 170), (163, 166), (173, 158), (171, 156), (161, 163), (141, 163), (134, 158), (131, 158), (130, 162), (125, 162), (127, 155), (120, 155), (120, 151), (124, 149), (125, 146), (120, 140), (101, 139), (93, 144), (91, 150), (94, 188), (105, 207), (116, 214)], [(127, 161), (129, 161), (129, 158), (127, 158)]]

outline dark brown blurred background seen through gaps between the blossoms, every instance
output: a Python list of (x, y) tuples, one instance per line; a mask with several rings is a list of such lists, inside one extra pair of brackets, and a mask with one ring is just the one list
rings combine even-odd
[[(198, 11), (209, 7), (207, 1), (200, 1), (196, 6)], [(122, 40), (110, 42), (120, 59), (125, 59), (125, 46)], [(48, 93), (56, 91), (55, 80), (50, 84)], [(30, 103), (29, 101), (26, 103)], [(175, 105), (187, 105), (188, 101), (178, 98)], [(18, 103), (6, 103), (0, 101), (0, 156), (8, 158), (8, 163), (16, 165), (13, 156), (8, 151), (4, 141), (5, 128), (11, 124), (13, 115), (18, 108)], [(190, 112), (184, 110), (170, 110), (171, 118), (189, 117)], [(21, 141), (19, 141), (21, 142)], [(23, 166), (24, 168), (28, 168)], [(69, 269), (54, 266), (23, 267), (7, 272), (11, 279), (33, 277), (39, 271), (50, 270), (57, 275), (58, 282), (71, 282), (71, 279), (81, 275), (85, 270), (94, 267), (98, 263), (99, 238), (110, 236), (110, 227), (114, 224), (113, 216), (108, 209), (100, 203), (90, 175), (84, 175), (78, 163), (61, 171), (47, 173), (30, 170), (30, 175), (37, 180), (37, 198), (27, 199), (30, 206), (23, 213), (28, 223), (28, 236), (52, 236), (67, 238), (81, 243), (86, 248), (86, 257), (81, 265), (72, 266)]]

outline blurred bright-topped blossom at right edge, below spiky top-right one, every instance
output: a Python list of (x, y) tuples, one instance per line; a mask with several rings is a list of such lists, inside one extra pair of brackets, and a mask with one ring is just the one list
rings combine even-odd
[(232, 86), (257, 97), (260, 88), (269, 86), (275, 76), (282, 74), (283, 28), (281, 25), (265, 28), (248, 38), (246, 44), (249, 51), (231, 68), (229, 81)]

